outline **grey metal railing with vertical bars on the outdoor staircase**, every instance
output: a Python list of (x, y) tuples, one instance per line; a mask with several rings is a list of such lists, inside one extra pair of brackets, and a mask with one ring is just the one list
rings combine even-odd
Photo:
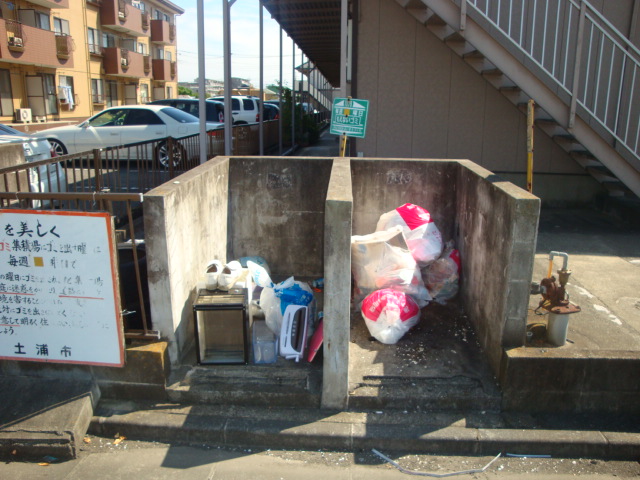
[(589, 2), (460, 1), (568, 96), (568, 128), (586, 114), (640, 160), (640, 50)]

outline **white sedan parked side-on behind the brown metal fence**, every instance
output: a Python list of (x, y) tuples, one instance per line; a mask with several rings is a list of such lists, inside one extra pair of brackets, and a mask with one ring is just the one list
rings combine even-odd
[[(207, 122), (207, 130), (224, 127)], [(198, 118), (174, 107), (127, 105), (107, 108), (78, 125), (50, 128), (46, 136), (56, 154), (85, 152), (94, 148), (148, 142), (159, 138), (180, 138), (200, 131)], [(166, 145), (156, 148), (156, 159), (166, 166)], [(174, 162), (178, 163), (178, 162)]]

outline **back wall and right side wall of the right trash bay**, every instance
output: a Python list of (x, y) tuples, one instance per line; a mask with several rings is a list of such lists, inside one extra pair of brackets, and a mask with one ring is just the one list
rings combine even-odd
[(352, 159), (353, 232), (404, 203), (426, 208), (462, 257), (461, 299), (496, 375), (524, 344), (540, 200), (465, 160)]

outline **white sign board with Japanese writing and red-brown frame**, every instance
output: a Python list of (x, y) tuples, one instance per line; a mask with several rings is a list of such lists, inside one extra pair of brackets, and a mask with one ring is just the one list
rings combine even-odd
[(108, 213), (0, 210), (0, 358), (124, 365)]

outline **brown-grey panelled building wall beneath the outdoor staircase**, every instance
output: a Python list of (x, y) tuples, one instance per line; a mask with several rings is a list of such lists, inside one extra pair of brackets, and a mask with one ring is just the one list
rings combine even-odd
[[(526, 118), (397, 2), (360, 2), (354, 96), (370, 101), (365, 157), (467, 158), (499, 173), (526, 172)], [(535, 177), (574, 188), (541, 188), (550, 203), (581, 201), (601, 187), (541, 130)], [(536, 182), (537, 183), (537, 182)]]

